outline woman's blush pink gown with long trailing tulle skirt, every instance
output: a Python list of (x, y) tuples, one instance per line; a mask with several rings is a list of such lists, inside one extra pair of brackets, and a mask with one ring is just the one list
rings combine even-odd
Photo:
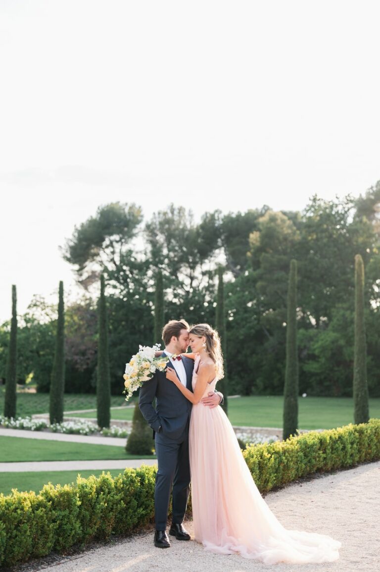
[[(193, 390), (199, 358), (195, 360)], [(206, 387), (214, 391), (216, 380)], [(267, 564), (333, 562), (341, 543), (286, 530), (262, 498), (221, 407), (194, 405), (190, 418), (191, 502), (195, 540), (206, 550)]]

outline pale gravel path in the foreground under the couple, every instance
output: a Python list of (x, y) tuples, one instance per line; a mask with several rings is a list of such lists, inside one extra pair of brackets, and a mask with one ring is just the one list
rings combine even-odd
[[(153, 530), (70, 556), (53, 556), (17, 567), (18, 572), (379, 572), (380, 462), (303, 480), (266, 495), (289, 529), (315, 531), (342, 542), (330, 564), (267, 566), (238, 555), (206, 553), (194, 541), (153, 546)], [(191, 522), (186, 523), (193, 533)]]

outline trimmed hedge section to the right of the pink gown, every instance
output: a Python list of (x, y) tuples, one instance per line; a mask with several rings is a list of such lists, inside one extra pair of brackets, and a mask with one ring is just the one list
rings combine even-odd
[(243, 455), (259, 491), (267, 492), (315, 472), (380, 459), (380, 419), (249, 446)]

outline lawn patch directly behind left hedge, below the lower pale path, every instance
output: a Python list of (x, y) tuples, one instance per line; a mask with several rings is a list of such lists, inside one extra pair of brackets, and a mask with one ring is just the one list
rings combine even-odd
[[(103, 471), (47, 471), (47, 472), (3, 472), (0, 473), (0, 493), (5, 495), (11, 493), (12, 488), (19, 491), (41, 491), (44, 484), (71, 484), (77, 481), (77, 475), (83, 478), (95, 475), (99, 476)], [(119, 468), (111, 469), (112, 476), (119, 475), (123, 471)]]

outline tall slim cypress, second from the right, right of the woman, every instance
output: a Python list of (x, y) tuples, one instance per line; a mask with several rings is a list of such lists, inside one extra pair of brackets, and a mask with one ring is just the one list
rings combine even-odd
[(297, 261), (291, 260), (287, 289), (286, 366), (283, 392), (283, 431), (285, 440), (297, 435), (298, 352), (297, 352)]

